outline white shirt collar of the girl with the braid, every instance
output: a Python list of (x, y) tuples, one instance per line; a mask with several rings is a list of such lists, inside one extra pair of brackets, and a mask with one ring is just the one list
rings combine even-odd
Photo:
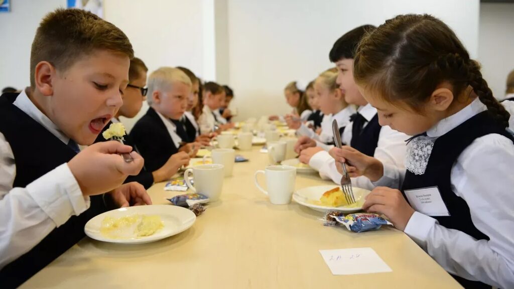
[(462, 124), (466, 120), (471, 117), (486, 111), (487, 107), (476, 98), (473, 100), (468, 106), (464, 107), (464, 109), (456, 112), (455, 114), (439, 120), (432, 128), (427, 131), (427, 136), (429, 137), (439, 137), (447, 132), (453, 130), (458, 127), (458, 125)]

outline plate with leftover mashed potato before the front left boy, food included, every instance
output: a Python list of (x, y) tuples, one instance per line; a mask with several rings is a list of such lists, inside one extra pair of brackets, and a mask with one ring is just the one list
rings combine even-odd
[(89, 220), (84, 232), (92, 239), (121, 244), (150, 243), (189, 229), (196, 215), (171, 205), (120, 208)]

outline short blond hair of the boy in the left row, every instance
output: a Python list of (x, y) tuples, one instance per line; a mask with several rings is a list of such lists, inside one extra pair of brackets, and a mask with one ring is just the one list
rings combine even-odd
[(185, 83), (191, 86), (191, 80), (183, 73), (182, 70), (173, 67), (160, 67), (150, 74), (148, 77), (148, 97), (146, 101), (148, 104), (152, 104), (152, 95), (156, 91), (168, 91), (173, 86), (173, 83)]

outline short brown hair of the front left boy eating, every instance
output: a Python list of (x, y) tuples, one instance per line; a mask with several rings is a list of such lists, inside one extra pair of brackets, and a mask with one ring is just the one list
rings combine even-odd
[(30, 51), (30, 87), (35, 87), (35, 66), (41, 61), (65, 71), (97, 49), (134, 57), (125, 33), (91, 12), (57, 9), (46, 14), (35, 32)]

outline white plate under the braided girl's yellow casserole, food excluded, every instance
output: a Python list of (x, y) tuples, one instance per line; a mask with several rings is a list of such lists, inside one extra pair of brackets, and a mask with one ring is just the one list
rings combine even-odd
[(292, 195), (292, 198), (298, 204), (309, 207), (316, 211), (325, 212), (328, 210), (332, 210), (332, 211), (340, 211), (340, 212), (345, 212), (345, 213), (352, 213), (352, 212), (362, 210), (362, 203), (364, 203), (364, 197), (370, 193), (369, 190), (353, 187), (355, 200), (357, 201), (357, 203), (359, 203), (359, 202), (361, 203), (361, 205), (358, 207), (351, 207), (351, 208), (344, 207), (344, 206), (327, 207), (327, 206), (322, 206), (322, 205), (318, 205), (318, 204), (313, 204), (313, 202), (317, 202), (320, 200), (320, 197), (323, 195), (324, 192), (326, 192), (328, 190), (332, 190), (335, 187), (337, 187), (337, 185), (303, 188), (301, 190), (296, 191)]

